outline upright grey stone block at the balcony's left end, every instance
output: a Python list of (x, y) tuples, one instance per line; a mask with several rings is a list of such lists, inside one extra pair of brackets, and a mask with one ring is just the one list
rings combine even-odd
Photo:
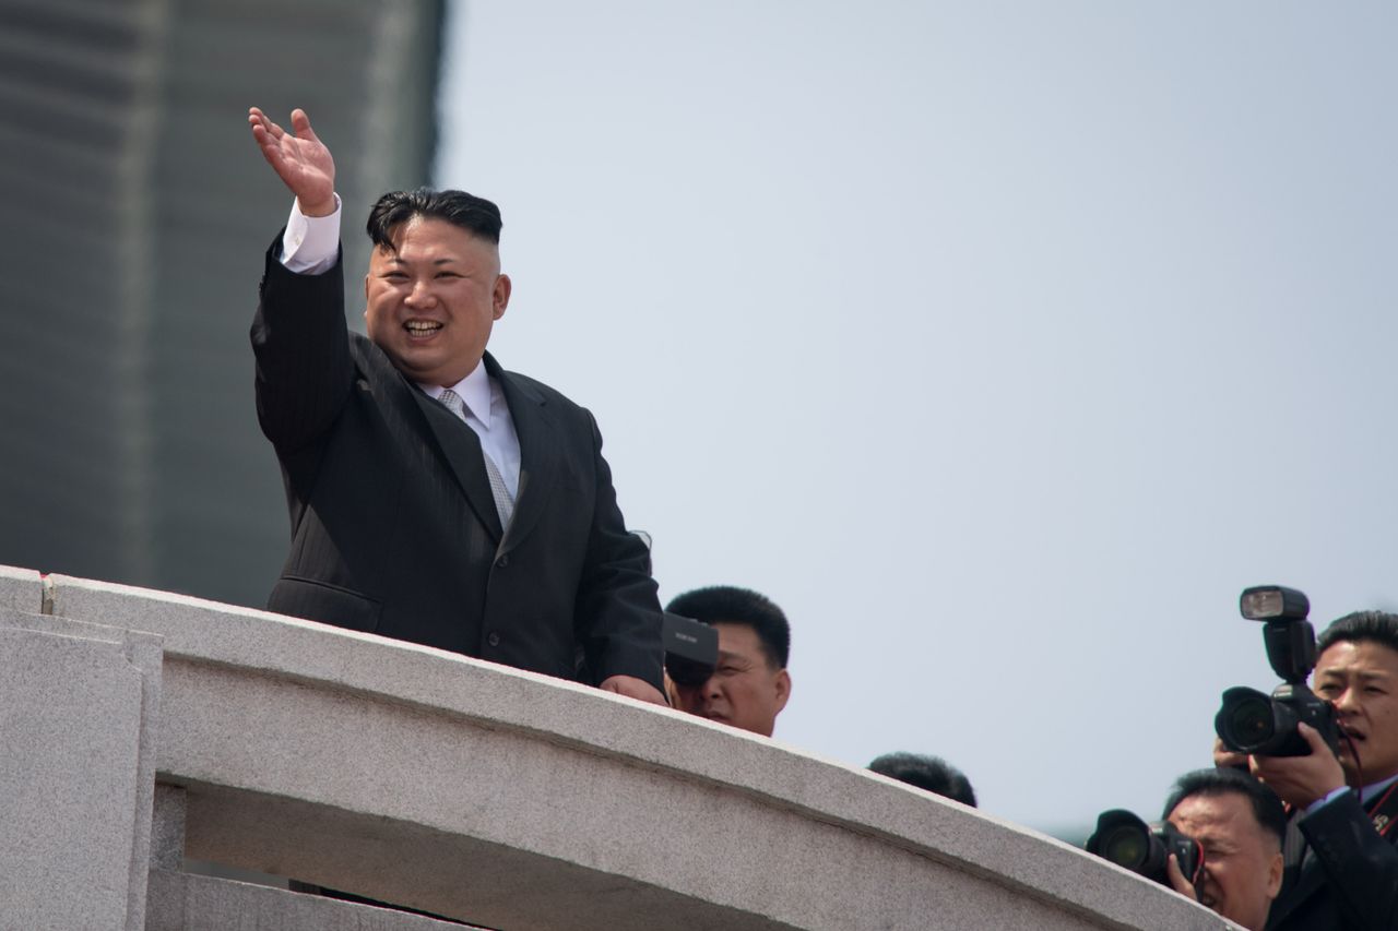
[(159, 678), (155, 636), (0, 608), (3, 927), (144, 925)]

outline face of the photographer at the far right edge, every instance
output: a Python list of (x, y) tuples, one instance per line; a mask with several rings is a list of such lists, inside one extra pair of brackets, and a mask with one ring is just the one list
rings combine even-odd
[[(1335, 705), (1339, 765), (1350, 786), (1398, 774), (1398, 651), (1373, 640), (1341, 640), (1320, 654), (1316, 693)], [(1355, 753), (1359, 753), (1356, 763)]]

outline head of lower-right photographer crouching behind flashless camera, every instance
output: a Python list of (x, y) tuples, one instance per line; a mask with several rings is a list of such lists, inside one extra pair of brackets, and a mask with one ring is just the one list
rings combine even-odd
[(1198, 895), (1172, 861), (1176, 890), (1248, 931), (1262, 931), (1282, 888), (1286, 811), (1276, 793), (1236, 769), (1201, 769), (1180, 777), (1162, 816), (1204, 850)]

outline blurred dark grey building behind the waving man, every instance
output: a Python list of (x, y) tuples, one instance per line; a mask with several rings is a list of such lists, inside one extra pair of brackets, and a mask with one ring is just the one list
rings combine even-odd
[(246, 112), (336, 152), (358, 294), (373, 197), (429, 180), (443, 6), (0, 0), (0, 563), (263, 602), (247, 329), (291, 200)]

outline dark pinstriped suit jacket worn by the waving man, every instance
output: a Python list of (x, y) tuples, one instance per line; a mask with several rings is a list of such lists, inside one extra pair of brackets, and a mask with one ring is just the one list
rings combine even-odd
[(267, 607), (565, 678), (582, 653), (593, 684), (661, 688), (656, 583), (591, 414), (485, 356), (520, 442), (502, 538), (474, 431), (348, 331), (340, 261), (301, 275), (280, 247), (252, 329), (292, 535)]

